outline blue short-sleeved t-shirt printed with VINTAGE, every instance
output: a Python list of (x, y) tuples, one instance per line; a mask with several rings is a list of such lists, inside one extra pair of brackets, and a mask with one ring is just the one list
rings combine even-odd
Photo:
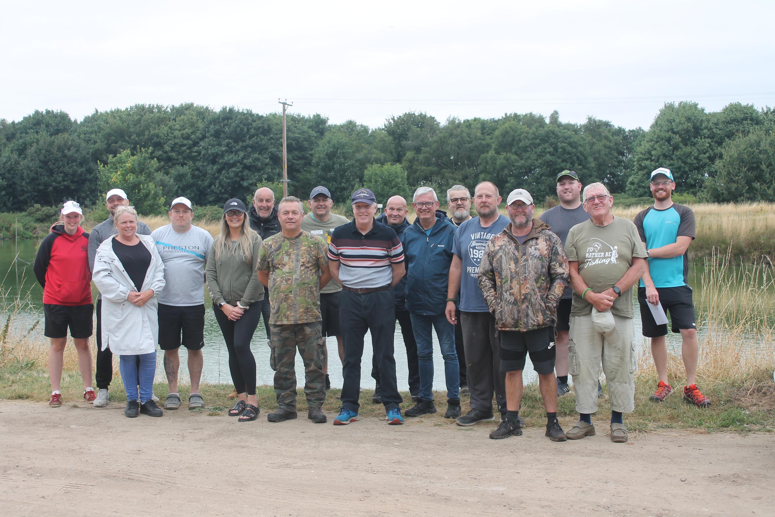
[(460, 310), (464, 312), (490, 312), (479, 288), (479, 264), (484, 248), (492, 236), (501, 233), (508, 225), (508, 217), (501, 215), (490, 226), (481, 226), (474, 217), (460, 223), (455, 233), (452, 253), (460, 258)]

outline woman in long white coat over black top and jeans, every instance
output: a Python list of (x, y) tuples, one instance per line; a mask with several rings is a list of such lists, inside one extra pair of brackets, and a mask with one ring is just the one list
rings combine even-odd
[(164, 288), (164, 264), (153, 238), (136, 234), (133, 207), (119, 206), (113, 225), (119, 233), (102, 241), (91, 274), (102, 294), (102, 350), (109, 346), (120, 356), (127, 400), (124, 414), (161, 416), (151, 397), (159, 342), (157, 294)]

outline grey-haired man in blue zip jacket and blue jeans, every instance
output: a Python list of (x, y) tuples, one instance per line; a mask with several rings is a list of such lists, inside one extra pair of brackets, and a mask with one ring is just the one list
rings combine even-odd
[(455, 350), (455, 327), (445, 315), (449, 264), (456, 227), (444, 212), (437, 213), (439, 198), (430, 187), (420, 187), (412, 198), (417, 219), (404, 231), (406, 260), (406, 308), (412, 317), (420, 370), (420, 401), (405, 415), (435, 413), (433, 404), (433, 341), (436, 329), (444, 358), (447, 419), (460, 416), (460, 371)]

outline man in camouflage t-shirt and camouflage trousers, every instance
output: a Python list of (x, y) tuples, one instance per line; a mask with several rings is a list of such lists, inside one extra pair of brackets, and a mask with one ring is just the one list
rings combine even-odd
[(267, 420), (296, 418), (294, 361), (298, 348), (305, 368), (307, 418), (323, 423), (326, 353), (325, 342), (320, 339), (320, 289), (331, 279), (329, 259), (322, 240), (301, 229), (301, 200), (283, 198), (277, 212), (282, 231), (261, 243), (257, 268), (258, 278), (269, 289), (272, 301), (270, 366), (275, 372), (277, 410), (267, 415)]

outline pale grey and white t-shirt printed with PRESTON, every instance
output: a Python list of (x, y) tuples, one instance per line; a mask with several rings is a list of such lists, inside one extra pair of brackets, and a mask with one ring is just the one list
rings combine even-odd
[(150, 236), (164, 262), (167, 282), (159, 293), (159, 303), (177, 307), (205, 303), (205, 264), (212, 248), (210, 233), (198, 226), (177, 233), (168, 224), (153, 230)]

